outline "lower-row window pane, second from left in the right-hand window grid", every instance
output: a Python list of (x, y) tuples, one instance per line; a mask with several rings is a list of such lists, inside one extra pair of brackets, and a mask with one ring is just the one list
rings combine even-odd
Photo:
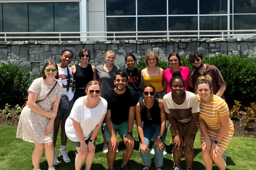
[[(138, 17), (138, 31), (166, 31), (166, 17)], [(138, 35), (166, 35), (166, 33), (138, 33)], [(143, 39), (164, 39), (166, 37), (148, 37)]]

